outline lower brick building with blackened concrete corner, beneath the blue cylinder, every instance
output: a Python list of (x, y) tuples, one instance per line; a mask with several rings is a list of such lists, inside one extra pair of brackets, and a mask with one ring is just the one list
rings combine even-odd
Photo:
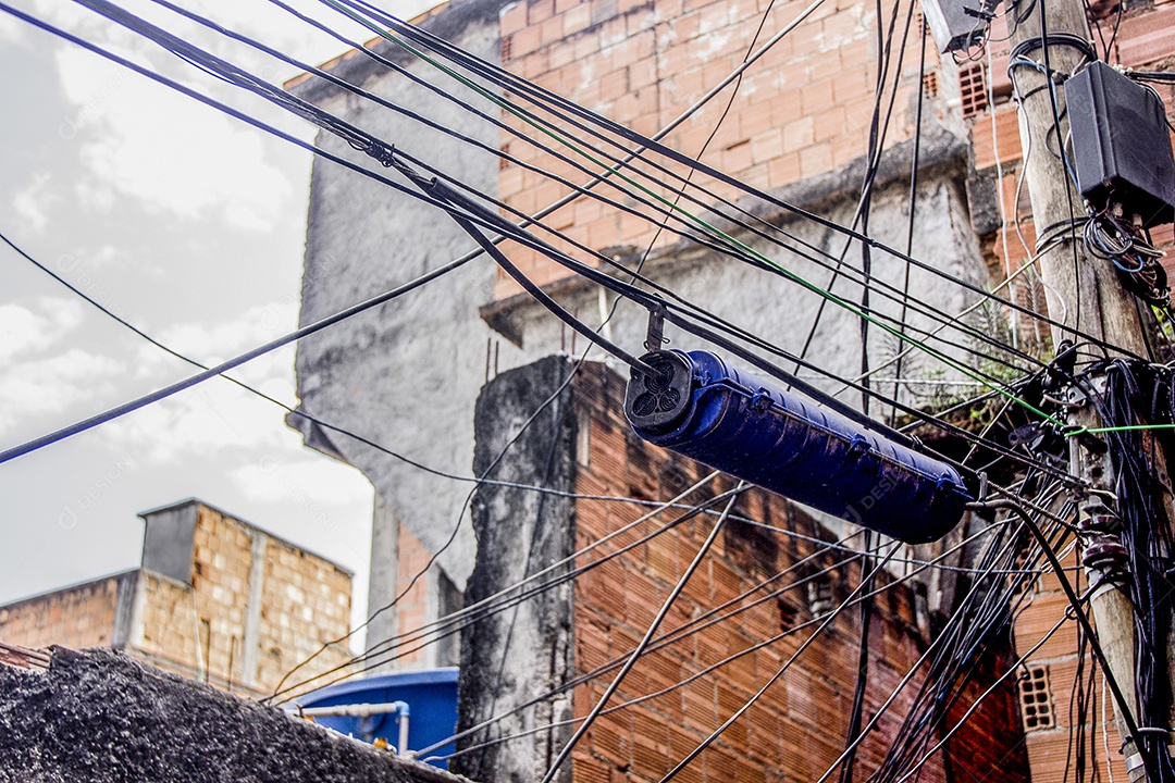
[[(555, 393), (570, 367), (566, 359), (545, 359), (486, 386), (478, 401), (479, 466), (513, 437), (517, 414)], [(499, 468), (502, 480), (542, 482), (565, 494), (495, 486), (478, 491), (474, 525), (482, 547), (470, 578), (470, 601), (583, 552), (651, 511), (600, 498), (666, 502), (710, 473), (636, 438), (622, 413), (623, 394), (622, 377), (604, 365), (585, 365)], [(704, 502), (732, 486), (721, 477), (703, 482), (684, 500)], [(577, 569), (600, 565), (571, 585), (464, 632), (463, 727), (592, 676), (570, 693), (466, 737), (463, 747), (475, 751), (455, 760), (455, 769), (475, 779), (542, 777), (573, 727), (481, 744), (589, 713), (615, 674), (605, 667), (636, 648), (716, 519), (693, 517), (650, 536), (682, 514), (680, 508), (667, 508), (620, 532), (575, 559)], [(858, 610), (838, 613), (819, 634), (813, 632), (850, 598), (860, 579), (859, 561), (852, 551), (830, 548), (837, 536), (778, 495), (747, 492), (733, 515), (738, 520), (725, 528), (662, 626), (669, 643), (636, 663), (610, 703), (639, 701), (596, 721), (577, 745), (573, 772), (564, 781), (660, 779), (785, 664), (784, 675), (678, 779), (815, 781), (840, 756), (857, 682)], [(893, 579), (882, 574), (879, 585), (892, 585)], [(868, 716), (926, 650), (931, 630), (925, 599), (909, 582), (892, 585), (874, 606)], [(711, 615), (716, 607), (725, 608)], [(956, 704), (956, 718), (1007, 663), (993, 659), (981, 667), (974, 689)], [(867, 736), (854, 779), (867, 779), (878, 768), (920, 682), (915, 674)], [(965, 724), (948, 751), (926, 763), (919, 779), (1027, 779), (1015, 700), (1014, 682), (995, 689), (981, 720)]]

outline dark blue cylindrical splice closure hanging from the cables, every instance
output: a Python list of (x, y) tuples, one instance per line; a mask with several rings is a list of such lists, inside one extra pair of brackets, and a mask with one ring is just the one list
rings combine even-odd
[(907, 544), (935, 541), (971, 500), (951, 465), (728, 366), (709, 351), (656, 351), (633, 370), (638, 436), (771, 492)]

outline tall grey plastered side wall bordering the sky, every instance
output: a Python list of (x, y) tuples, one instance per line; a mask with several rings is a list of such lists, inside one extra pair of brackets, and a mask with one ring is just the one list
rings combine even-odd
[[(466, 52), (497, 62), (498, 9), (504, 5), (504, 0), (456, 2), (424, 27)], [(431, 66), (404, 58), (395, 47), (381, 50), (430, 83), (454, 90), (454, 82)], [(397, 106), (491, 148), (498, 144), (495, 126), (441, 100), (403, 74), (357, 55), (340, 62), (336, 69)], [(321, 80), (303, 82), (296, 92), (474, 188), (497, 191), (498, 162), (490, 153), (328, 88)], [(459, 92), (471, 104), (497, 115), (498, 109), (488, 101)], [(372, 163), (330, 134), (321, 134), (317, 143), (397, 178), (390, 169)], [(411, 281), (475, 247), (432, 207), (318, 158), (310, 188), (301, 323), (311, 323)], [(375, 311), (301, 340), (297, 391), (302, 410), (424, 465), (468, 477), (474, 401), (486, 379), (488, 345), (498, 346), (497, 366), (505, 369), (517, 363), (512, 346), (495, 339), (478, 316), (478, 306), (492, 295), (494, 275), (492, 262), (479, 258)], [(291, 424), (308, 434), (308, 444), (363, 471), (384, 501), (380, 519), (404, 525), (432, 552), (449, 539), (469, 491), (466, 484), (428, 474), (335, 432), (309, 432), (309, 426), (301, 426), (304, 419), (300, 424), (291, 418)], [(396, 562), (380, 556), (395, 551), (388, 540), (395, 532), (396, 526), (387, 524), (372, 529), (372, 610), (395, 595)], [(466, 519), (439, 558), (458, 588), (464, 588), (472, 568), (474, 551)], [(392, 633), (395, 613), (385, 612), (371, 623), (368, 639), (375, 643)]]

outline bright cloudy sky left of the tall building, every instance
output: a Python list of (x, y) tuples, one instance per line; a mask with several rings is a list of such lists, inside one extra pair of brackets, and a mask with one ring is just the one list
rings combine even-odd
[[(181, 0), (182, 1), (182, 0)], [(80, 6), (14, 5), (311, 140), (314, 130)], [(296, 69), (130, 11), (284, 81)], [(340, 54), (266, 0), (184, 7), (303, 61)], [(297, 4), (295, 4), (297, 5)], [(411, 16), (428, 0), (388, 0)], [(368, 38), (322, 5), (304, 8)], [(310, 156), (0, 12), (0, 234), (160, 342), (212, 364), (297, 325)], [(192, 374), (0, 247), (0, 450)], [(295, 404), (294, 349), (236, 371)], [(0, 465), (0, 601), (139, 562), (139, 512), (196, 497), (357, 572), (371, 487), (222, 379)]]

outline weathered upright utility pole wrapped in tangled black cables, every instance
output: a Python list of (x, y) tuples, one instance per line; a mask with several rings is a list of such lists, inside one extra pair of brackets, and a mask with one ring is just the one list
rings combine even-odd
[[(1030, 12), (1018, 23), (1018, 13), (1029, 6)], [(1020, 0), (1019, 5), (1010, 7), (1008, 19), (1012, 25), (1013, 52), (1023, 45), (1022, 54), (1042, 66), (1047, 53), (1047, 62), (1053, 72), (1067, 75), (1075, 73), (1087, 62), (1086, 54), (1075, 46), (1076, 41), (1089, 42), (1090, 39), (1086, 9), (1081, 0)], [(1089, 46), (1092, 47), (1092, 42)], [(1027, 66), (1016, 67), (1013, 76), (1016, 96), (1020, 100), (1020, 137), (1022, 149), (1026, 150), (1025, 176), (1032, 197), (1036, 236), (1041, 237), (1046, 229), (1055, 231), (1056, 227), (1075, 217), (1085, 217), (1086, 209), (1063, 162), (1058, 157), (1058, 150), (1068, 137), (1069, 130), (1069, 122), (1063, 112), (1063, 86), (1060, 80), (1055, 80), (1050, 88), (1045, 73)], [(1059, 117), (1060, 130), (1058, 130)], [(1122, 133), (1130, 131), (1123, 129)], [(1069, 232), (1066, 241), (1055, 243), (1052, 249), (1041, 254), (1039, 264), (1038, 271), (1047, 286), (1049, 315), (1055, 320), (1062, 322), (1069, 329), (1080, 329), (1136, 356), (1147, 356), (1144, 326), (1135, 297), (1123, 289), (1113, 264), (1086, 251), (1080, 230)], [(1054, 345), (1060, 345), (1067, 337), (1081, 342), (1081, 338), (1075, 338), (1072, 332), (1067, 333), (1065, 329), (1054, 328)], [(1096, 379), (1094, 384), (1101, 389)], [(1083, 399), (1083, 394), (1077, 394), (1070, 401), (1080, 405)], [(1101, 426), (1090, 405), (1075, 406), (1069, 420), (1079, 426)], [(1070, 438), (1072, 473), (1087, 480), (1095, 488), (1114, 492), (1115, 484), (1108, 455), (1087, 450), (1079, 440)], [(1161, 453), (1156, 461), (1162, 463)], [(1169, 486), (1166, 480), (1163, 485)], [(1160, 525), (1170, 525), (1169, 493), (1164, 505), (1168, 519), (1155, 521)], [(1113, 553), (1115, 546), (1122, 553), (1124, 549), (1119, 529), (1115, 529), (1112, 509), (1092, 499), (1083, 505), (1082, 515), (1083, 521), (1097, 531), (1093, 540), (1086, 541), (1085, 549), (1087, 574), (1090, 575), (1093, 583), (1099, 576), (1099, 568), (1094, 562), (1097, 558), (1092, 554), (1101, 552), (1104, 555), (1107, 551)], [(1113, 560), (1113, 554), (1110, 559)], [(1099, 642), (1106, 654), (1110, 673), (1120, 683), (1132, 713), (1130, 717), (1134, 718), (1129, 722), (1137, 724), (1135, 627), (1129, 600), (1120, 587), (1103, 583), (1090, 599), (1090, 607)], [(1115, 710), (1119, 711), (1119, 731), (1123, 738), (1128, 737), (1127, 722), (1123, 721), (1119, 704), (1115, 704)], [(1144, 779), (1147, 770), (1135, 743), (1128, 742), (1123, 752), (1130, 781)]]

